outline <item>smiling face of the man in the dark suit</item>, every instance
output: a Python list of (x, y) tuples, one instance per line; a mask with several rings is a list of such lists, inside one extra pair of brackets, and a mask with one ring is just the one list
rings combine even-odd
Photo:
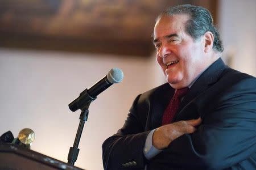
[(189, 86), (207, 67), (203, 38), (185, 32), (188, 15), (162, 16), (154, 28), (156, 60), (173, 88)]

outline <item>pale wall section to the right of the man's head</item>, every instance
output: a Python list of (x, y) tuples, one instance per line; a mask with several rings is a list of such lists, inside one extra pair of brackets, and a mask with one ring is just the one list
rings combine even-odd
[(256, 1), (221, 0), (219, 25), (223, 58), (236, 70), (256, 76)]

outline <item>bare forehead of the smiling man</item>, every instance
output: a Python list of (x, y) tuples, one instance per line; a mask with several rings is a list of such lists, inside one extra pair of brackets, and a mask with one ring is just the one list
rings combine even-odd
[(188, 19), (189, 16), (186, 14), (161, 16), (155, 23), (154, 39), (159, 39), (160, 37), (170, 34), (184, 32), (184, 26)]

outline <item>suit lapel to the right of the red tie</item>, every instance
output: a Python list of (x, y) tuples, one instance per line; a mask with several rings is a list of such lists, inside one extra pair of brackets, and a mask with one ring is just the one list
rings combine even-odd
[(207, 70), (204, 71), (203, 74), (196, 80), (196, 82), (192, 85), (192, 87), (188, 90), (187, 95), (185, 95), (183, 101), (180, 104), (180, 109), (177, 112), (174, 121), (179, 118), (180, 114), (182, 114), (183, 108), (195, 97), (199, 96), (202, 92), (207, 90), (212, 84), (216, 83), (218, 78), (220, 78), (221, 73), (224, 71), (225, 63), (221, 58), (218, 58), (212, 65), (208, 67)]

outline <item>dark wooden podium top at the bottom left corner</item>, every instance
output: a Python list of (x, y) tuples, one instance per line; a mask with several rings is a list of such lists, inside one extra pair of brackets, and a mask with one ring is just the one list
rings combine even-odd
[(83, 170), (18, 145), (0, 145), (0, 170)]

